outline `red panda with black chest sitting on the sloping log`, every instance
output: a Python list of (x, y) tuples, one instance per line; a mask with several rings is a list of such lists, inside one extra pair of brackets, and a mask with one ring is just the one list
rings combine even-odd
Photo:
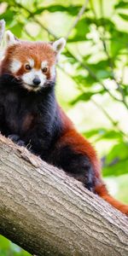
[(55, 65), (66, 41), (21, 41), (7, 32), (0, 70), (0, 131), (49, 164), (60, 167), (120, 212), (102, 181), (96, 150), (76, 131), (55, 99)]

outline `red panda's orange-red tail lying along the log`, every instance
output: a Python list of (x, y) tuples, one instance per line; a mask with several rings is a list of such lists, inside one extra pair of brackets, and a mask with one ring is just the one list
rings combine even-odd
[(110, 205), (117, 208), (120, 212), (125, 213), (128, 216), (128, 205), (125, 205), (116, 199), (113, 196), (109, 195), (108, 189), (105, 184), (99, 184), (95, 188), (96, 194), (100, 195), (105, 201), (108, 201)]

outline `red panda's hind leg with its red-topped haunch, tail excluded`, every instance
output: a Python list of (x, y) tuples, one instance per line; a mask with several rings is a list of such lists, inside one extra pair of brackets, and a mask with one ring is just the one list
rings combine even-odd
[(100, 178), (100, 165), (94, 148), (71, 129), (55, 145), (51, 163), (72, 175), (90, 191), (95, 190), (95, 180)]

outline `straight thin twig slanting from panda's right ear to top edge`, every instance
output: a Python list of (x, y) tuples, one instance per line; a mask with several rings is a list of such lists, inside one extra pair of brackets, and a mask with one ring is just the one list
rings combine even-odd
[(78, 24), (78, 22), (79, 22), (81, 16), (84, 14), (84, 11), (86, 10), (88, 3), (89, 3), (89, 0), (85, 0), (84, 5), (83, 5), (82, 8), (79, 10), (79, 14), (77, 15), (76, 19), (73, 21), (73, 25), (70, 27), (69, 31), (67, 32), (67, 36), (65, 37), (66, 40), (67, 40), (67, 38), (70, 36), (70, 34), (71, 34), (73, 28)]

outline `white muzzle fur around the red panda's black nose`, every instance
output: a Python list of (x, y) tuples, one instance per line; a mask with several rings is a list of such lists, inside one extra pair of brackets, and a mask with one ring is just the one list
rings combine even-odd
[[(33, 79), (35, 79), (37, 76), (41, 82), (40, 84), (38, 84), (37, 88), (35, 88), (33, 86)], [(30, 72), (23, 74), (22, 80), (27, 90), (40, 90), (46, 82), (46, 76), (44, 75), (44, 73), (42, 73), (41, 69), (36, 70), (35, 68), (33, 68)]]

